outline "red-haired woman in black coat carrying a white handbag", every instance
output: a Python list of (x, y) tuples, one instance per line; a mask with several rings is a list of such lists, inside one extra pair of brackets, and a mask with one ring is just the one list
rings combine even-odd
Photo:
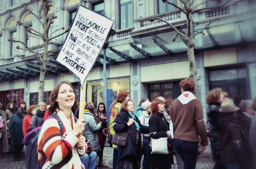
[[(164, 118), (164, 103), (156, 99), (151, 104), (151, 117), (149, 119), (150, 138), (158, 139), (161, 137), (171, 138), (169, 122)], [(149, 153), (149, 168), (171, 168), (174, 163), (171, 151), (169, 154)]]

